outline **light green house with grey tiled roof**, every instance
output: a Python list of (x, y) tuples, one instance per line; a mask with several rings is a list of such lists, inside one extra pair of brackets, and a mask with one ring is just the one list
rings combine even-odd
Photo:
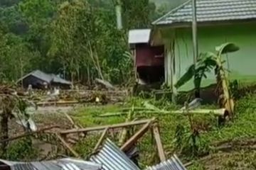
[[(256, 0), (197, 0), (196, 11), (199, 53), (215, 52), (215, 47), (225, 42), (235, 43), (240, 50), (223, 56), (230, 79), (256, 82)], [(192, 1), (174, 8), (152, 25), (151, 45), (164, 45), (165, 81), (174, 88), (193, 64)], [(214, 74), (209, 73), (202, 86), (214, 83)], [(190, 89), (192, 81), (179, 90)]]

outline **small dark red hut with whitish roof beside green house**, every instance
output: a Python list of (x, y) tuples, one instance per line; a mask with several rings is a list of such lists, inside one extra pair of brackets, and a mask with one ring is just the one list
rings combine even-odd
[(164, 46), (151, 46), (151, 30), (129, 30), (137, 79), (146, 84), (164, 81)]

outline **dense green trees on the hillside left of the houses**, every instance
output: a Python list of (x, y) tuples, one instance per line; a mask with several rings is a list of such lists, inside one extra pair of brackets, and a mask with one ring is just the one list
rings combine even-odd
[[(115, 6), (122, 7), (117, 29)], [(148, 28), (165, 13), (149, 0), (11, 0), (0, 3), (0, 80), (41, 69), (90, 83), (132, 76), (127, 31)]]

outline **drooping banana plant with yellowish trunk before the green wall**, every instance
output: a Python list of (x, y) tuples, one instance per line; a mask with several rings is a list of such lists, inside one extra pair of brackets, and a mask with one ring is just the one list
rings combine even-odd
[(234, 112), (234, 101), (230, 98), (230, 90), (228, 89), (228, 75), (227, 69), (223, 66), (225, 60), (223, 60), (222, 55), (236, 52), (240, 48), (234, 43), (227, 42), (218, 47), (215, 47), (216, 54), (213, 52), (201, 53), (198, 57), (196, 64), (192, 64), (187, 72), (183, 74), (181, 79), (175, 84), (176, 88), (180, 88), (183, 84), (193, 79), (193, 83), (196, 91), (200, 91), (201, 81), (206, 77), (207, 72), (212, 72), (214, 70), (217, 86), (220, 87), (221, 91), (221, 106), (225, 107), (230, 114)]

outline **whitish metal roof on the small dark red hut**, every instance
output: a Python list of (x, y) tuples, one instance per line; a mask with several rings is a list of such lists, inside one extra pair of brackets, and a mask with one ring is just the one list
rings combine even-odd
[(149, 43), (150, 29), (129, 30), (129, 44)]

